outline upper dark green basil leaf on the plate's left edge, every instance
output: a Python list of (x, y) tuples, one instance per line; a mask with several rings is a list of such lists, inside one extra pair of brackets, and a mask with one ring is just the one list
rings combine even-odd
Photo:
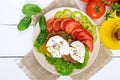
[(47, 25), (46, 25), (46, 19), (44, 15), (42, 15), (39, 19), (39, 26), (40, 26), (41, 32), (46, 32)]

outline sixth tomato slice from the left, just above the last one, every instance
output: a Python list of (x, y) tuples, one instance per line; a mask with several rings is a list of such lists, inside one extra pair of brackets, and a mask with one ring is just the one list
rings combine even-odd
[(84, 31), (78, 33), (77, 39), (79, 41), (83, 41), (85, 39), (89, 39), (89, 40), (93, 41), (93, 36), (84, 29)]

